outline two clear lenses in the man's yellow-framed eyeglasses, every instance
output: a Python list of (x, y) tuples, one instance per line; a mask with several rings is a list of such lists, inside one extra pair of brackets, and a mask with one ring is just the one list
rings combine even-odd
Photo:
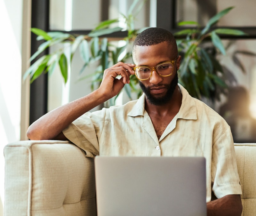
[[(172, 63), (158, 65), (156, 71), (162, 76), (168, 76), (172, 74)], [(151, 76), (151, 68), (138, 67), (135, 69), (135, 73), (139, 79), (148, 79)]]

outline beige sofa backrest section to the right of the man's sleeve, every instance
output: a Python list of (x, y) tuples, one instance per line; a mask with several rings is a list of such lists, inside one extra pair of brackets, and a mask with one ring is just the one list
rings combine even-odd
[(235, 143), (238, 174), (242, 186), (242, 216), (256, 215), (256, 143)]

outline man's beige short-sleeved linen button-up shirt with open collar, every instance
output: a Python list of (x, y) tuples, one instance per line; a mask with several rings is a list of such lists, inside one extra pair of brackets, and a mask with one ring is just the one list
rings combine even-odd
[(159, 140), (144, 108), (144, 94), (122, 106), (86, 113), (63, 133), (89, 157), (204, 156), (206, 201), (211, 200), (212, 191), (217, 198), (241, 194), (230, 127), (214, 110), (179, 87), (180, 111)]

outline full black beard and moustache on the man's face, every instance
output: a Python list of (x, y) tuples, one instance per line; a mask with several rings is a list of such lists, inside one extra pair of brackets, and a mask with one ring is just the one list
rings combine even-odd
[[(172, 95), (175, 91), (176, 86), (178, 85), (178, 73), (176, 71), (176, 74), (170, 84), (157, 84), (157, 85), (152, 85), (150, 87), (146, 87), (140, 81), (139, 81), (139, 84), (140, 84), (141, 90), (145, 93), (149, 103), (156, 106), (165, 105), (172, 99)], [(153, 95), (150, 94), (150, 88), (159, 87), (159, 86), (165, 86), (167, 88), (167, 92), (164, 96), (154, 97)]]

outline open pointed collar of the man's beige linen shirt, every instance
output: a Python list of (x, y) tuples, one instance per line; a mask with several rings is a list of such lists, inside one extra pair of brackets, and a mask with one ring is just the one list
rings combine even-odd
[[(187, 90), (180, 84), (180, 91), (182, 94), (182, 102), (180, 111), (178, 112), (178, 118), (183, 119), (197, 119), (196, 114), (196, 103), (195, 100), (188, 94)], [(145, 112), (145, 94), (143, 93), (142, 96), (137, 100), (135, 105), (133, 106), (132, 110), (128, 113), (128, 116), (144, 116)]]

